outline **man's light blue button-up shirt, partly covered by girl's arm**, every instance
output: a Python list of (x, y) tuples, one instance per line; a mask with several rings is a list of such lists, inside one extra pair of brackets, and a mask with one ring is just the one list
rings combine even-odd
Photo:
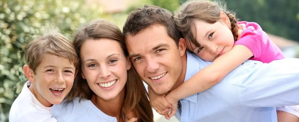
[[(211, 63), (187, 52), (185, 81)], [(299, 105), (299, 59), (248, 60), (212, 88), (180, 102), (175, 116), (181, 122), (277, 122), (275, 106)]]

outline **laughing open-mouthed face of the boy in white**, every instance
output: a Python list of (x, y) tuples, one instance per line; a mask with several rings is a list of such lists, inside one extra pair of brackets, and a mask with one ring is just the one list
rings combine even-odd
[[(60, 104), (70, 92), (75, 77), (75, 66), (69, 59), (53, 54), (43, 54), (32, 80), (34, 95), (44, 106)], [(43, 103), (44, 102), (44, 103)]]

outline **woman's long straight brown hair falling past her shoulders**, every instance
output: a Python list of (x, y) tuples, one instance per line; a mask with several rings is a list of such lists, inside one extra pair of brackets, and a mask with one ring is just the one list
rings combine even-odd
[[(121, 45), (124, 55), (128, 57), (129, 54), (124, 44), (124, 37), (122, 36), (121, 30), (115, 24), (102, 19), (94, 20), (75, 32), (73, 44), (78, 56), (80, 57), (81, 45), (86, 40), (97, 40), (101, 38), (117, 41)], [(73, 88), (68, 96), (68, 101), (73, 100), (75, 97), (79, 97), (79, 100), (90, 100), (92, 95), (94, 95), (87, 81), (81, 77), (81, 72), (80, 66), (79, 75), (75, 78)], [(153, 112), (148, 100), (148, 93), (133, 65), (130, 70), (127, 71), (127, 75), (127, 83), (125, 85), (126, 96), (122, 107), (123, 113), (126, 114), (132, 111), (138, 118), (138, 122), (153, 122)]]

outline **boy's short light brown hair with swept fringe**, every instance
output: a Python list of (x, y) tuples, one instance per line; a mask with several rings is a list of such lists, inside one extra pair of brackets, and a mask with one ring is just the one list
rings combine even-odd
[(25, 49), (25, 64), (29, 65), (34, 74), (45, 53), (67, 58), (76, 68), (78, 66), (79, 57), (73, 43), (58, 31), (49, 29), (43, 36), (31, 41)]

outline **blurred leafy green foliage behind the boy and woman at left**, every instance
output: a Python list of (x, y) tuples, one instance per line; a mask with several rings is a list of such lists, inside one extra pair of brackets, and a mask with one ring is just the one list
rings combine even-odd
[(71, 39), (78, 25), (104, 18), (122, 27), (127, 14), (105, 14), (97, 4), (85, 0), (1, 0), (0, 1), (0, 122), (8, 114), (22, 86), (24, 48), (48, 28), (61, 30)]

